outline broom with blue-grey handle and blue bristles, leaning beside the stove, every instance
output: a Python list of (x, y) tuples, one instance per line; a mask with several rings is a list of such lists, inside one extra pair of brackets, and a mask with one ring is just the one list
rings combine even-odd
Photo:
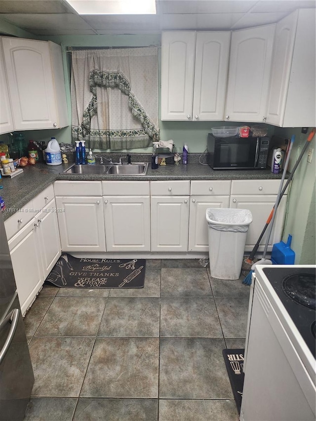
[[(281, 197), (283, 195), (282, 194), (282, 186), (283, 186), (283, 182), (284, 182), (284, 179), (285, 179), (285, 174), (286, 174), (287, 166), (288, 166), (288, 163), (289, 163), (290, 154), (291, 154), (291, 150), (292, 150), (292, 147), (293, 147), (294, 140), (295, 140), (295, 135), (293, 135), (291, 137), (291, 143), (290, 143), (290, 147), (289, 147), (289, 150), (288, 150), (288, 154), (286, 156), (280, 187), (278, 189), (278, 193), (277, 193), (277, 196), (276, 196), (276, 203), (275, 203), (275, 205), (274, 205), (274, 207), (273, 207), (273, 209), (272, 209), (272, 211), (269, 215), (269, 218), (266, 222), (266, 226), (268, 227), (269, 224), (270, 224), (270, 226), (269, 226), (269, 231), (268, 231), (268, 234), (267, 234), (267, 239), (266, 239), (266, 244), (265, 244), (265, 249), (264, 249), (264, 252), (263, 252), (263, 255), (262, 255), (262, 259), (252, 265), (250, 272), (248, 273), (248, 275), (242, 281), (242, 283), (244, 285), (251, 285), (251, 278), (252, 278), (252, 273), (255, 270), (255, 268), (254, 268), (255, 265), (272, 265), (271, 260), (266, 259), (266, 255), (267, 255), (268, 244), (269, 244), (269, 240), (270, 240), (270, 236), (271, 236), (271, 232), (272, 232), (272, 228), (273, 228), (273, 223), (274, 223), (274, 220), (275, 220), (275, 217), (276, 217), (276, 209), (277, 209), (277, 207), (280, 203)], [(284, 191), (285, 190), (283, 189), (283, 193), (284, 193)], [(260, 242), (261, 238), (263, 237), (263, 234), (266, 230), (266, 226), (265, 226), (264, 230), (261, 232), (260, 237), (259, 237), (259, 239), (256, 243), (256, 245), (258, 244), (258, 246), (259, 246), (259, 242)], [(256, 247), (256, 245), (255, 245), (255, 247)], [(255, 253), (253, 253), (253, 250), (252, 250), (251, 254), (253, 254), (253, 256), (254, 256)], [(250, 260), (250, 256), (249, 256), (249, 260)]]

